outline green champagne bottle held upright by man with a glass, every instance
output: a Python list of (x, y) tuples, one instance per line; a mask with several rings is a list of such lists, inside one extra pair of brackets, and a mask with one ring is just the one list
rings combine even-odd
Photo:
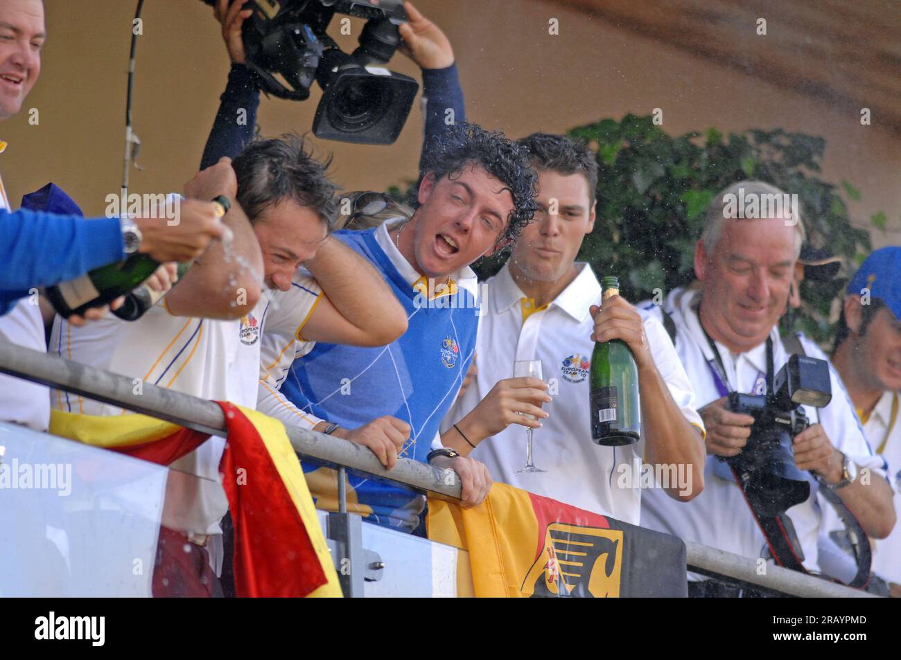
[[(602, 305), (611, 295), (619, 295), (619, 280), (605, 277)], [(642, 435), (638, 366), (622, 339), (595, 343), (588, 382), (591, 438), (608, 447), (637, 442)]]

